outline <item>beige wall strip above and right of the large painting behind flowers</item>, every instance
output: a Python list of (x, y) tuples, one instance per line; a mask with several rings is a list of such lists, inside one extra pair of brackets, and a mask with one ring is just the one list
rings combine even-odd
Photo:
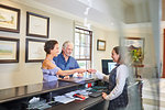
[[(155, 66), (155, 48), (151, 28), (129, 28), (124, 29), (124, 36), (143, 37), (144, 41), (144, 64)], [(153, 48), (151, 51), (151, 48)], [(150, 56), (150, 57), (147, 57)]]

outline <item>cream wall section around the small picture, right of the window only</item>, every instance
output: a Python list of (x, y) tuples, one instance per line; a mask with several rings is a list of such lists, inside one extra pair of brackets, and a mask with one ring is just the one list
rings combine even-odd
[[(101, 59), (111, 59), (111, 51), (119, 45), (119, 35), (116, 31), (103, 31), (94, 28), (94, 68), (102, 72)], [(97, 40), (106, 41), (106, 51), (97, 51)]]

